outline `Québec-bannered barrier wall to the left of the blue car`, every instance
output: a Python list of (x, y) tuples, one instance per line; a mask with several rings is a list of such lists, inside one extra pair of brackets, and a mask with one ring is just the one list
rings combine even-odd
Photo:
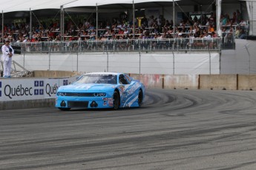
[[(63, 72), (59, 78), (40, 77), (41, 75), (47, 77), (52, 73), (53, 71), (36, 73), (39, 75), (36, 78), (0, 78), (0, 109), (53, 106), (59, 86), (65, 86), (76, 81), (79, 75), (61, 77), (61, 75), (67, 74), (67, 72)], [(72, 72), (69, 74), (71, 75)]]

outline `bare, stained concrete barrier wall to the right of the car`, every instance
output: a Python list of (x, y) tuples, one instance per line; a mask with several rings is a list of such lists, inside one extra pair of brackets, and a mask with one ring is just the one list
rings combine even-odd
[(137, 75), (146, 88), (256, 90), (256, 75)]

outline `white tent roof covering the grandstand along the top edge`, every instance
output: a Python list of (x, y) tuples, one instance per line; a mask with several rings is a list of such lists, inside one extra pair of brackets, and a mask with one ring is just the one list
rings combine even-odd
[[(194, 4), (211, 4), (214, 0), (174, 0), (180, 5), (194, 5)], [(135, 7), (164, 7), (172, 6), (172, 0), (134, 0)], [(222, 3), (234, 3), (238, 0), (222, 0)], [(44, 10), (44, 9), (60, 9), (63, 5), (64, 8), (70, 7), (131, 7), (133, 0), (0, 0), (2, 13), (9, 13), (15, 11), (29, 11), (31, 10)]]

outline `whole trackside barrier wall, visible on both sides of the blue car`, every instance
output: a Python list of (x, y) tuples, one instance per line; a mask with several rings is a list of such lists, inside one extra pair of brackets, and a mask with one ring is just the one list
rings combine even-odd
[[(68, 85), (78, 77), (0, 78), (0, 109), (54, 106), (59, 86)], [(131, 74), (131, 77), (140, 80), (146, 89), (256, 90), (256, 75)]]

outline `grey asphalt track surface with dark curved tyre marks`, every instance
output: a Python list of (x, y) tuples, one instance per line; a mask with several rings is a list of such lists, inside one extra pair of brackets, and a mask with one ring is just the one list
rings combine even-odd
[(255, 103), (148, 89), (140, 109), (0, 111), (0, 169), (256, 169)]

